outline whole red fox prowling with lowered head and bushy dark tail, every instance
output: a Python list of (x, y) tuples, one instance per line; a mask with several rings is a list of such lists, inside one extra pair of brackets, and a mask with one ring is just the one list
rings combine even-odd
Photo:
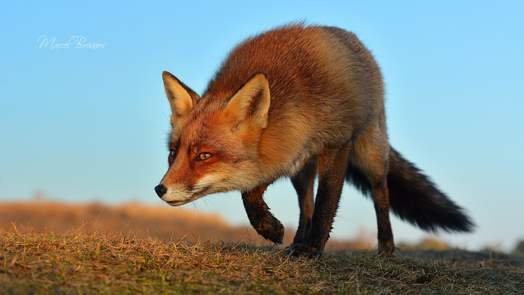
[(350, 31), (289, 23), (249, 37), (201, 96), (167, 71), (162, 79), (171, 130), (168, 170), (155, 192), (171, 206), (240, 191), (257, 233), (282, 244), (285, 229), (264, 192), (290, 178), (300, 208), (291, 256), (322, 256), (345, 182), (373, 200), (381, 255), (396, 249), (390, 210), (429, 232), (475, 226), (391, 148), (381, 70)]

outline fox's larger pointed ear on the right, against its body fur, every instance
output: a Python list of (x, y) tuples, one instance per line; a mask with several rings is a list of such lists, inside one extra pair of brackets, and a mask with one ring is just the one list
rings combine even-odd
[(236, 91), (227, 103), (225, 113), (232, 121), (249, 121), (255, 129), (264, 129), (268, 122), (269, 103), (267, 76), (263, 72), (256, 72)]

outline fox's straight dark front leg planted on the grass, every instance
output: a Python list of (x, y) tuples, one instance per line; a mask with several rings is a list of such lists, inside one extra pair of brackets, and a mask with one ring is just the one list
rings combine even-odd
[(326, 149), (319, 155), (319, 187), (316, 192), (311, 229), (304, 243), (293, 243), (288, 248), (292, 256), (322, 256), (339, 207), (349, 154), (350, 144), (347, 143), (340, 149)]

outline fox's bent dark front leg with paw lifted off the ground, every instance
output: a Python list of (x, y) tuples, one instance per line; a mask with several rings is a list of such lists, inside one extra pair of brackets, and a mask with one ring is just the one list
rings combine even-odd
[(246, 209), (249, 223), (257, 233), (276, 244), (282, 244), (284, 227), (280, 221), (269, 212), (269, 207), (264, 202), (264, 192), (267, 185), (261, 185), (252, 191), (242, 192), (242, 201)]

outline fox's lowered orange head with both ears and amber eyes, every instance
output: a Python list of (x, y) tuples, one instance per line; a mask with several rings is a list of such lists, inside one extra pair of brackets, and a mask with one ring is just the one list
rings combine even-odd
[(212, 193), (258, 185), (258, 143), (268, 125), (269, 83), (254, 73), (230, 98), (200, 98), (169, 72), (162, 74), (171, 106), (169, 168), (158, 196), (180, 206)]

